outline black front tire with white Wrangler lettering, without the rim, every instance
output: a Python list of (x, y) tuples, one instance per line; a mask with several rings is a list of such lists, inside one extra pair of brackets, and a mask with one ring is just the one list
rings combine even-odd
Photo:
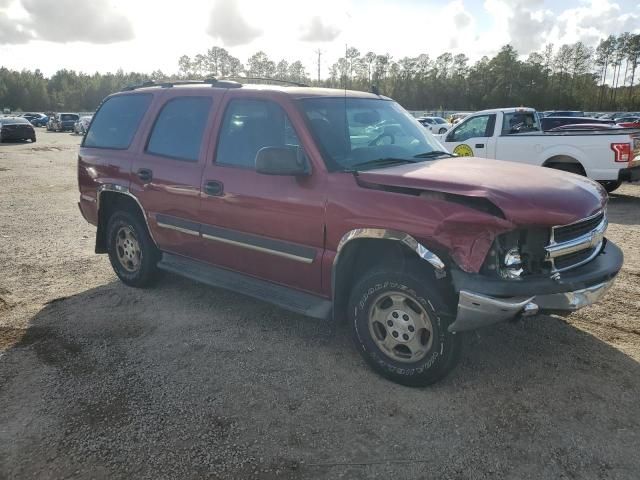
[[(405, 296), (409, 302), (413, 302), (414, 313), (421, 307), (430, 319), (432, 330), (428, 338), (431, 343), (427, 342), (426, 353), (415, 362), (411, 362), (410, 359), (399, 361), (376, 343), (383, 340), (374, 337), (376, 334), (372, 333), (374, 328), (370, 327), (370, 316), (374, 310), (374, 303), (380, 305), (381, 298), (382, 302), (386, 301), (384, 296), (387, 292)], [(395, 315), (395, 312), (390, 315)], [(463, 336), (447, 330), (452, 318), (451, 309), (447, 307), (444, 295), (436, 286), (433, 275), (417, 268), (407, 272), (386, 268), (366, 273), (354, 286), (349, 300), (349, 322), (353, 340), (362, 357), (380, 375), (411, 387), (424, 387), (437, 382), (460, 360)], [(389, 329), (386, 326), (384, 328), (389, 335)], [(415, 328), (418, 328), (417, 324)], [(397, 333), (394, 332), (396, 338)], [(418, 330), (413, 335), (424, 337), (426, 333), (426, 330), (424, 334)]]

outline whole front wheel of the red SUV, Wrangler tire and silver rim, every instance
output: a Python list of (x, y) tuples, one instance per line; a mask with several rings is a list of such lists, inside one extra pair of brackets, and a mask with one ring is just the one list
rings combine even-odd
[(349, 321), (358, 351), (380, 375), (402, 385), (437, 382), (458, 363), (462, 335), (426, 273), (370, 272), (354, 287)]

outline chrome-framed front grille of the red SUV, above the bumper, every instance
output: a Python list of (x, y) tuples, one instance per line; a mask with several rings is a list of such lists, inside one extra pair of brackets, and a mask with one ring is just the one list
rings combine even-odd
[(607, 230), (605, 211), (570, 225), (551, 229), (551, 242), (545, 247), (553, 272), (579, 267), (593, 260), (602, 250)]

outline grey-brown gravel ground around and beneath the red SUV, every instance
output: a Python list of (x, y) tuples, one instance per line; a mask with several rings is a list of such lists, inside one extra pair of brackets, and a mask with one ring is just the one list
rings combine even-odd
[(0, 478), (637, 479), (640, 185), (600, 304), (469, 339), (441, 383), (342, 329), (167, 275), (119, 283), (77, 202), (79, 137), (0, 146)]

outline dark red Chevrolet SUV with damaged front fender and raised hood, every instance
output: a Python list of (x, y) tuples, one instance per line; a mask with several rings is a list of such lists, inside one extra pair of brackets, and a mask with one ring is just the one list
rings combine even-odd
[(463, 332), (596, 301), (622, 266), (606, 192), (455, 157), (389, 98), (210, 80), (108, 97), (78, 157), (80, 209), (127, 285), (158, 269), (322, 320), (406, 385)]

